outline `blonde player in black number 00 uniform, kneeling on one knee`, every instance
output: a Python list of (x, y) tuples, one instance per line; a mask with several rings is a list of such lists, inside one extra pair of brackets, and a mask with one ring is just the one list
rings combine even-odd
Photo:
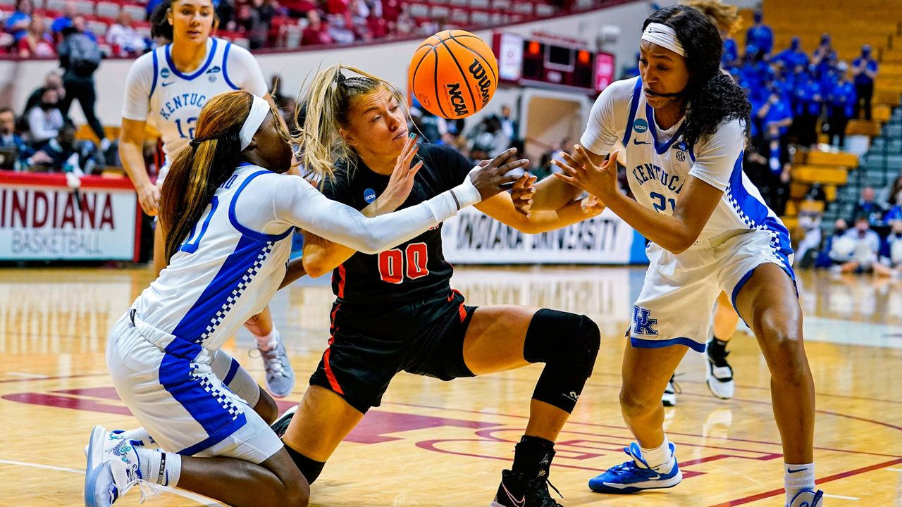
[[(361, 70), (335, 66), (320, 72), (306, 103), (305, 168), (318, 175), (327, 197), (366, 215), (416, 206), (459, 185), (470, 171), (460, 153), (424, 144), (412, 189), (396, 185), (390, 175), (403, 152), (409, 118), (396, 88)], [(334, 159), (333, 152), (340, 156)], [(516, 185), (529, 178), (524, 175)], [(504, 224), (538, 233), (600, 213), (600, 207), (583, 205), (570, 202), (557, 212), (526, 217), (503, 192), (477, 207)], [(302, 259), (311, 276), (334, 270), (331, 336), (297, 417), (287, 414), (274, 429), (284, 432), (283, 441), (309, 483), (364, 413), (380, 405), (397, 373), (448, 381), (545, 363), (512, 470), (502, 472), (492, 505), (557, 506), (548, 494), (548, 471), (557, 434), (594, 367), (600, 335), (592, 320), (553, 309), (466, 306), (448, 283), (453, 267), (442, 254), (440, 226), (378, 254), (329, 242), (310, 230)]]

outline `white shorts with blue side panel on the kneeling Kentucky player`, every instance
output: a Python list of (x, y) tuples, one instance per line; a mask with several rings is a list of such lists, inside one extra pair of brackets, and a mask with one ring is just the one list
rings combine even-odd
[[(115, 390), (160, 447), (184, 456), (228, 456), (255, 464), (278, 452), (279, 437), (213, 372), (214, 355), (203, 351), (189, 359), (172, 352), (177, 348), (154, 345), (128, 313), (107, 339), (106, 364)], [(233, 377), (250, 378), (239, 369)]]

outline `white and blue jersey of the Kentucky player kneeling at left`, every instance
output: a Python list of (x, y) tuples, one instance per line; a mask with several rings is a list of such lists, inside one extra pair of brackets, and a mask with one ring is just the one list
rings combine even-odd
[[(144, 323), (189, 344), (217, 349), (266, 307), (285, 276), (293, 227), (268, 235), (243, 226), (235, 216), (238, 198), (272, 200), (247, 186), (263, 174), (271, 172), (243, 165), (216, 189), (169, 266), (135, 300), (133, 308)], [(270, 207), (259, 208), (272, 214)]]

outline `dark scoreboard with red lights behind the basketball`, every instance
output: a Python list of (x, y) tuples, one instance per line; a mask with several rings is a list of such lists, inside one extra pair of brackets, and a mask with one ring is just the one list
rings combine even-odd
[(492, 42), (501, 83), (596, 95), (613, 80), (613, 55), (578, 41), (496, 32)]

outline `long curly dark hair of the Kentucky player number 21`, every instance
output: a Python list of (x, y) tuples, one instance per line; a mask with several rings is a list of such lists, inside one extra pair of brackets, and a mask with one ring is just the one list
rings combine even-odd
[(683, 140), (690, 146), (717, 131), (730, 120), (744, 122), (746, 143), (749, 140), (751, 106), (745, 92), (730, 76), (721, 72), (723, 41), (717, 27), (704, 14), (687, 5), (672, 5), (651, 14), (649, 23), (666, 24), (686, 50), (689, 83)]

